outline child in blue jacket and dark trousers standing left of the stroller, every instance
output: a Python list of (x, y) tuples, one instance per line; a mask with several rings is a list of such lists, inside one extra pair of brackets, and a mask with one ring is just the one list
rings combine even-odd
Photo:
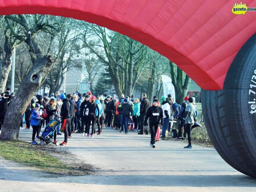
[(32, 142), (31, 142), (32, 145), (37, 144), (37, 142), (35, 141), (35, 136), (36, 136), (37, 130), (39, 128), (39, 121), (40, 121), (38, 118), (38, 117), (40, 117), (39, 109), (40, 109), (40, 105), (39, 105), (39, 103), (36, 103), (36, 107), (31, 112), (30, 124), (33, 128)]

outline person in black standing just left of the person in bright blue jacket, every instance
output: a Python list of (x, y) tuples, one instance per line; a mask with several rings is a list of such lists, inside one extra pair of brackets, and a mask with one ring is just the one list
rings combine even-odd
[[(82, 136), (85, 136), (88, 129), (90, 132), (90, 125), (89, 125), (89, 109), (85, 110), (86, 106), (90, 103), (89, 95), (85, 95), (84, 101), (80, 105), (80, 117), (82, 120)], [(85, 131), (84, 131), (85, 127)], [(87, 135), (89, 137), (89, 134)]]

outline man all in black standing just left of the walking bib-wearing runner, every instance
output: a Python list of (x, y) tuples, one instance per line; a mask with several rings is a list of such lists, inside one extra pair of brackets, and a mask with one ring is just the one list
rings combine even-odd
[[(139, 115), (140, 132), (138, 134), (143, 134), (143, 132), (144, 132), (144, 121), (145, 121), (146, 111), (150, 106), (149, 100), (146, 99), (146, 93), (143, 93), (141, 97), (142, 97), (142, 101), (140, 103), (140, 115)], [(145, 127), (145, 129), (146, 129), (146, 127)], [(146, 129), (146, 134), (148, 134), (147, 129)]]

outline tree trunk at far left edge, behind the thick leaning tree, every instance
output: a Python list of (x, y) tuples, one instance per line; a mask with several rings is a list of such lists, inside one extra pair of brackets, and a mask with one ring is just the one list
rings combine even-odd
[(13, 49), (11, 48), (9, 37), (5, 36), (4, 50), (0, 49), (1, 57), (5, 52), (5, 58), (0, 62), (0, 93), (5, 91), (8, 75), (11, 70)]

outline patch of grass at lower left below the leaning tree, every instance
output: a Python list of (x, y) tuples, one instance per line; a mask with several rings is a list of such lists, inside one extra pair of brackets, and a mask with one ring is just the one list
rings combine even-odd
[[(52, 155), (54, 153), (56, 153), (55, 156)], [(51, 174), (89, 175), (92, 173), (91, 167), (88, 165), (76, 166), (70, 163), (72, 161), (64, 162), (58, 159), (58, 156), (66, 157), (67, 152), (57, 151), (50, 146), (42, 147), (27, 142), (0, 140), (0, 156)]]

